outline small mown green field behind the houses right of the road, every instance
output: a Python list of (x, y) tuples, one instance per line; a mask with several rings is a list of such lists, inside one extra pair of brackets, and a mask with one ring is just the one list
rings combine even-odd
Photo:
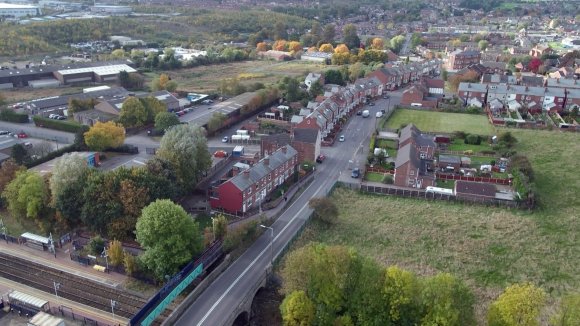
[(478, 135), (491, 135), (494, 128), (484, 115), (444, 113), (419, 110), (397, 110), (387, 122), (387, 127), (399, 129), (403, 124), (413, 123), (422, 131), (465, 131)]

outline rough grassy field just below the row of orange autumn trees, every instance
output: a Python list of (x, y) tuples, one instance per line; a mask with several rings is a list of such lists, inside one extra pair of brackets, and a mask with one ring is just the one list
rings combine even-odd
[[(241, 61), (225, 64), (199, 66), (167, 72), (178, 83), (179, 90), (190, 92), (215, 92), (220, 82), (227, 78), (238, 78), (242, 84), (263, 83), (268, 86), (284, 76), (297, 77), (309, 72), (320, 72), (333, 66), (301, 62), (276, 62), (268, 60)], [(147, 73), (146, 81), (150, 83), (160, 73)]]

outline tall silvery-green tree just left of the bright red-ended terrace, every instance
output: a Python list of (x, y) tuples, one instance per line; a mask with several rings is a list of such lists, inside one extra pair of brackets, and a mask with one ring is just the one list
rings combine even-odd
[(163, 138), (157, 155), (171, 162), (183, 189), (192, 190), (211, 167), (211, 155), (203, 128), (196, 125), (177, 125)]

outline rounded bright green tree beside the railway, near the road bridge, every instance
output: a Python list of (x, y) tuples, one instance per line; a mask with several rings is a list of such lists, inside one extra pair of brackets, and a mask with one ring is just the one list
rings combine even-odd
[(145, 248), (141, 260), (158, 279), (173, 275), (201, 252), (201, 230), (191, 216), (170, 200), (156, 200), (137, 221), (137, 241)]

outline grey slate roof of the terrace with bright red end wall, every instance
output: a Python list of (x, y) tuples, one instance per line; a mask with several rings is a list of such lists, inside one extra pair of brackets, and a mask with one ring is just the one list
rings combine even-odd
[(241, 191), (253, 186), (270, 172), (282, 166), (282, 164), (285, 164), (292, 157), (298, 155), (298, 152), (292, 148), (292, 146), (286, 145), (285, 148), (286, 153), (283, 152), (284, 147), (282, 147), (268, 156), (268, 159), (270, 160), (268, 165), (265, 164), (265, 158), (263, 158), (248, 170), (249, 175), (242, 172), (231, 178), (230, 182)]

